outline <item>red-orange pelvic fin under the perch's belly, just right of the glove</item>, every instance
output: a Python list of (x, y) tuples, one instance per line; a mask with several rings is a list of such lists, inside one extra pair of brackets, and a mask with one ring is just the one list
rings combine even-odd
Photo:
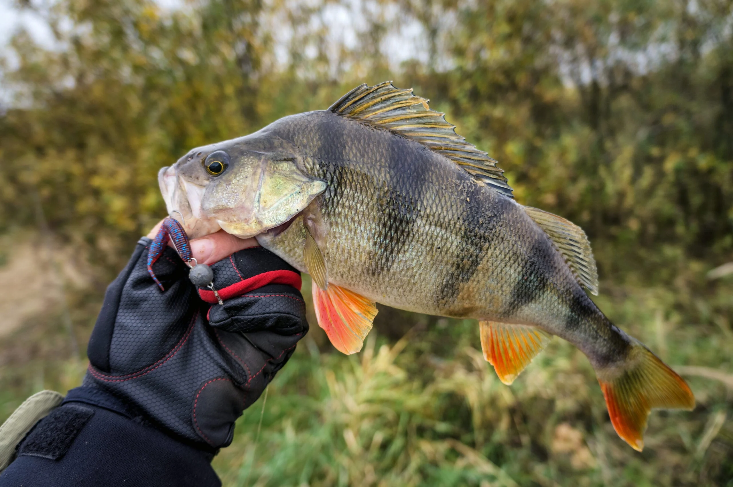
[(376, 304), (330, 283), (325, 290), (313, 285), (313, 303), (318, 326), (334, 347), (347, 355), (360, 351), (377, 315)]

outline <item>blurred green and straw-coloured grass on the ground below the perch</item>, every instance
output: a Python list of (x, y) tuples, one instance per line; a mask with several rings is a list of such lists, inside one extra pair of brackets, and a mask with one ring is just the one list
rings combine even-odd
[[(665, 287), (602, 284), (609, 318), (697, 398), (695, 411), (652, 413), (643, 453), (616, 436), (572, 345), (554, 339), (507, 387), (474, 321), (385, 309), (354, 356), (312, 327), (213, 465), (225, 486), (733, 486), (733, 279), (707, 282), (690, 264)], [(99, 299), (70, 301), (80, 343)], [(32, 392), (81, 381), (86, 359), (69, 358), (69, 343), (60, 312), (3, 340), (0, 420)]]

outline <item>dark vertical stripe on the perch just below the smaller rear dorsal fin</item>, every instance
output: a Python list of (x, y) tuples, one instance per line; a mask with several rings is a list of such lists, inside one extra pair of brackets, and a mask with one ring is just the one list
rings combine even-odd
[(522, 271), (512, 289), (507, 308), (502, 313), (504, 316), (511, 317), (521, 307), (530, 304), (545, 293), (550, 283), (547, 273), (553, 271), (553, 268), (546, 266), (554, 262), (553, 252), (556, 250), (547, 238), (534, 236), (534, 241), (527, 251), (526, 260), (520, 263)]

